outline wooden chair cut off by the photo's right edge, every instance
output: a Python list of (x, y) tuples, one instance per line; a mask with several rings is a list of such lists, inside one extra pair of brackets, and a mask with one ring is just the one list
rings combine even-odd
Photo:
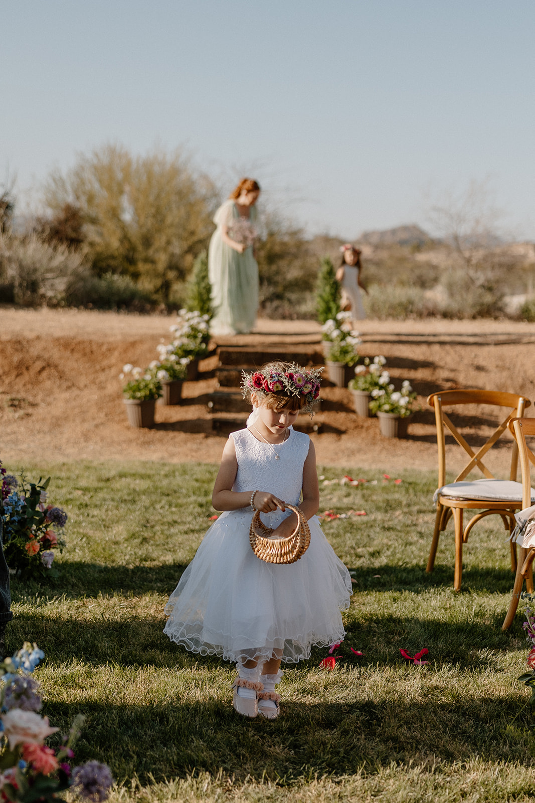
[[(526, 507), (531, 507), (534, 501), (534, 491), (531, 487), (530, 463), (533, 463), (533, 466), (535, 466), (535, 454), (533, 454), (533, 451), (529, 448), (528, 444), (525, 442), (525, 439), (535, 436), (535, 418), (512, 418), (507, 426), (509, 426), (509, 430), (511, 430), (513, 433), (520, 453), (520, 466), (522, 472), (522, 510), (524, 510)], [(533, 537), (529, 537), (528, 532), (525, 532), (525, 536), (521, 536), (521, 540), (522, 542), (526, 542), (526, 546), (524, 546), (523, 543), (519, 544), (520, 554), (518, 556), (517, 573), (515, 575), (515, 581), (513, 585), (513, 596), (511, 597), (511, 603), (509, 605), (509, 610), (507, 612), (507, 616), (505, 617), (504, 624), (501, 628), (502, 630), (508, 630), (513, 624), (513, 619), (515, 618), (515, 613), (517, 613), (518, 601), (520, 600), (524, 581), (526, 589), (528, 589), (529, 593), (533, 593), (532, 566), (533, 560), (535, 560), (535, 547), (529, 546), (529, 544), (532, 541), (535, 544), (535, 540)]]

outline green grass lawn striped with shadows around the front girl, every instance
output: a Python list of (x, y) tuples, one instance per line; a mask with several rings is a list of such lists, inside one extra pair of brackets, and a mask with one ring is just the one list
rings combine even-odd
[[(533, 716), (517, 682), (528, 649), (521, 613), (501, 632), (513, 585), (505, 531), (494, 518), (472, 532), (456, 594), (450, 524), (427, 575), (434, 474), (407, 471), (395, 485), (347, 467), (375, 484), (322, 486), (322, 510), (367, 512), (322, 525), (355, 579), (346, 658), (329, 673), (319, 668), (325, 650), (315, 650), (287, 669), (282, 715), (269, 722), (234, 713), (233, 666), (162, 633), (164, 603), (213, 515), (217, 467), (25, 468), (29, 479), (52, 475), (68, 548), (59, 579), (12, 582), (8, 650), (28, 640), (45, 651), (43, 713), (63, 731), (86, 715), (76, 759), (110, 765), (119, 784), (111, 800), (533, 798)], [(427, 647), (428, 666), (408, 665), (400, 647)]]

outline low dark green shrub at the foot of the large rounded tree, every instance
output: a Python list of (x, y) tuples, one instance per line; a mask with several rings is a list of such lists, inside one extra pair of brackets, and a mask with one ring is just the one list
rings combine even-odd
[(64, 300), (71, 307), (127, 308), (142, 312), (153, 305), (152, 296), (141, 290), (130, 276), (114, 273), (95, 276), (87, 267), (71, 276)]

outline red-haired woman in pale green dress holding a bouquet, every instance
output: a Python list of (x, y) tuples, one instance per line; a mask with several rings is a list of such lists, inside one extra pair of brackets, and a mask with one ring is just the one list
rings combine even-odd
[(259, 194), (257, 181), (242, 178), (213, 218), (217, 229), (210, 240), (208, 271), (215, 311), (210, 328), (215, 335), (250, 332), (257, 317), (258, 266), (253, 243)]

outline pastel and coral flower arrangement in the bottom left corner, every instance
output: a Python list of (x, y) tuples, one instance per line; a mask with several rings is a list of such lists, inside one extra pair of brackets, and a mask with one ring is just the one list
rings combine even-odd
[(104, 801), (113, 784), (107, 765), (87, 761), (71, 768), (83, 716), (76, 717), (59, 749), (45, 744), (59, 728), (51, 728), (48, 717), (38, 713), (43, 702), (39, 683), (30, 675), (41, 658), (43, 651), (25, 642), (22, 650), (0, 663), (0, 798), (16, 803), (57, 801), (58, 793), (71, 789), (86, 801)]

